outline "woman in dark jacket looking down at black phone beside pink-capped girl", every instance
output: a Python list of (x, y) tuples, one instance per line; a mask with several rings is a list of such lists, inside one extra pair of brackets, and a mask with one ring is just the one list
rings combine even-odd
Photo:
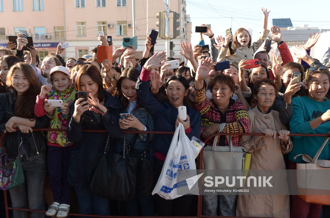
[[(75, 145), (70, 154), (68, 181), (76, 190), (79, 213), (110, 215), (109, 200), (92, 194), (89, 183), (96, 156), (103, 154), (108, 135), (109, 141), (121, 136), (123, 130), (118, 125), (118, 109), (122, 105), (103, 89), (100, 71), (92, 64), (79, 69), (75, 84), (77, 91), (87, 92), (88, 101), (79, 98), (70, 106), (67, 136)], [(82, 133), (82, 129), (105, 129), (107, 133)]]

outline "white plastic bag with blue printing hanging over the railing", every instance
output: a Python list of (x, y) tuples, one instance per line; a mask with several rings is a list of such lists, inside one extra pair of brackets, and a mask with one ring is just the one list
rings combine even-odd
[[(190, 190), (191, 187), (188, 188), (186, 179), (196, 175), (195, 156), (197, 157), (198, 153), (197, 147), (190, 142), (180, 123), (174, 132), (162, 172), (152, 195), (158, 194), (164, 199), (175, 199), (188, 193), (196, 194), (196, 188)], [(178, 192), (180, 195), (177, 194)]]

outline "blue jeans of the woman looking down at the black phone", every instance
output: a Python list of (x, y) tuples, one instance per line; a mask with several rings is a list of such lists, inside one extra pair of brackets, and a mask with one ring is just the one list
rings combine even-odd
[[(109, 199), (93, 195), (89, 191), (89, 183), (82, 187), (76, 187), (80, 214), (110, 215)], [(86, 218), (82, 216), (81, 218)]]

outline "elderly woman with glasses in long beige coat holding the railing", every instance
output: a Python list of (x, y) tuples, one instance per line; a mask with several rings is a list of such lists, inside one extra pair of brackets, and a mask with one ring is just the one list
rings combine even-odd
[[(263, 132), (265, 136), (245, 135), (240, 146), (251, 154), (250, 169), (285, 169), (283, 154), (292, 150), (290, 133), (281, 123), (279, 112), (272, 110), (277, 92), (270, 79), (257, 80), (252, 94), (257, 107), (248, 111), (249, 132)], [(279, 133), (280, 136), (276, 136)], [(287, 189), (287, 184), (282, 184)], [(290, 217), (289, 196), (286, 195), (239, 195), (236, 216)]]

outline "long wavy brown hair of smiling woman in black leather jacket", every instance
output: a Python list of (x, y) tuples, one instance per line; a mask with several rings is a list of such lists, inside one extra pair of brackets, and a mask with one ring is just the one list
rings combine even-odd
[[(15, 70), (20, 70), (24, 76), (29, 80), (30, 87), (19, 97), (17, 91), (14, 89), (12, 77)], [(7, 82), (9, 90), (15, 91), (16, 102), (15, 102), (15, 116), (29, 118), (34, 120), (34, 105), (36, 103), (37, 95), (40, 93), (41, 86), (34, 69), (27, 63), (19, 62), (13, 65), (7, 74)]]

